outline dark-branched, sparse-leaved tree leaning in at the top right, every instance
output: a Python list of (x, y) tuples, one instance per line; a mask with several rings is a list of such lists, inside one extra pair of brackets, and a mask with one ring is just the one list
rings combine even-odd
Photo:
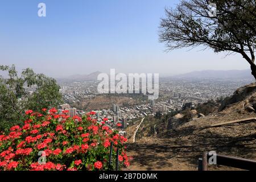
[[(209, 3), (215, 3), (216, 14), (209, 11)], [(227, 55), (240, 53), (256, 79), (255, 4), (255, 0), (183, 0), (176, 9), (166, 9), (160, 42), (166, 43), (168, 50), (203, 46)]]

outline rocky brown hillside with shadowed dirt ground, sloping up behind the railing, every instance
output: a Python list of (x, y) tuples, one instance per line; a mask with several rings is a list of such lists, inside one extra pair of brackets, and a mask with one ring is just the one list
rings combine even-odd
[[(197, 159), (202, 152), (212, 150), (217, 154), (256, 160), (254, 119), (209, 127), (237, 119), (256, 118), (255, 101), (256, 84), (250, 84), (222, 101), (216, 113), (203, 115), (189, 110), (189, 121), (184, 119), (184, 113), (176, 114), (168, 120), (165, 130), (151, 137), (144, 135), (128, 147), (130, 155), (134, 155), (131, 169), (197, 170)], [(209, 169), (234, 168), (210, 166)]]

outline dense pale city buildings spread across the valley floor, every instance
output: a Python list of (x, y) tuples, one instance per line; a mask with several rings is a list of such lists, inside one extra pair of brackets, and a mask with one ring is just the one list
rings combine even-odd
[[(122, 129), (129, 126), (130, 122), (141, 119), (148, 115), (155, 115), (157, 111), (162, 114), (171, 113), (175, 110), (181, 110), (188, 103), (196, 106), (199, 103), (208, 100), (217, 100), (231, 95), (236, 88), (247, 84), (247, 80), (188, 80), (181, 78), (162, 78), (159, 81), (158, 100), (147, 100), (142, 97), (143, 94), (112, 94), (115, 100), (97, 102), (96, 106), (108, 105), (104, 109), (94, 109), (96, 111), (97, 121), (108, 118), (110, 127), (117, 127), (117, 123), (122, 123)], [(84, 115), (89, 109), (86, 104), (93, 99), (97, 100), (102, 94), (97, 92), (97, 81), (85, 82), (61, 82), (61, 93), (63, 93), (66, 104), (61, 105), (61, 109), (69, 110), (70, 115)], [(109, 96), (106, 96), (107, 98)], [(136, 100), (137, 104), (124, 104), (118, 102), (121, 97), (127, 100)], [(118, 103), (117, 103), (118, 102)], [(81, 103), (84, 106), (81, 106)], [(122, 131), (122, 129), (120, 130)]]

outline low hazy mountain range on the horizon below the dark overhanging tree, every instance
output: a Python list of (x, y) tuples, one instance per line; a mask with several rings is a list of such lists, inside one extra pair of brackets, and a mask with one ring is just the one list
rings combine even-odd
[(250, 69), (246, 70), (228, 70), (228, 71), (194, 71), (181, 75), (172, 76), (175, 78), (212, 78), (212, 79), (253, 79)]

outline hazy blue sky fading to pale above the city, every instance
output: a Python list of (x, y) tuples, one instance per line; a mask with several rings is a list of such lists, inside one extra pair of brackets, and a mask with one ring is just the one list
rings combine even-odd
[[(38, 4), (46, 3), (46, 17)], [(158, 27), (171, 0), (5, 0), (0, 3), (0, 64), (53, 77), (109, 73), (175, 75), (249, 69), (240, 55), (179, 49), (164, 52)]]

